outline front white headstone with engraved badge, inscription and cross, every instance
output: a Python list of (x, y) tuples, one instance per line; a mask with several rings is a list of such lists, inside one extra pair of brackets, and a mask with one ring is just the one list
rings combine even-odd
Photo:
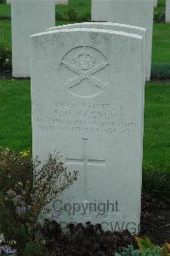
[[(138, 232), (143, 61), (143, 37), (126, 32), (75, 28), (31, 36), (33, 157), (60, 151), (68, 171), (79, 171), (51, 203), (58, 222)], [(64, 206), (70, 212), (57, 212)]]

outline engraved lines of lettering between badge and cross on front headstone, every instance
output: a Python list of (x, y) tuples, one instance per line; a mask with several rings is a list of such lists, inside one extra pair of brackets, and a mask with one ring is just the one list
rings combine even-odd
[(77, 133), (105, 133), (128, 135), (135, 128), (133, 122), (119, 122), (116, 109), (108, 103), (87, 104), (55, 102), (54, 115), (36, 119), (40, 131)]

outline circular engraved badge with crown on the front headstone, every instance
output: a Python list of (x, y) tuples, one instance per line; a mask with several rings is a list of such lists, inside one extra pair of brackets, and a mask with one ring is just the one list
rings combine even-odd
[(61, 77), (65, 87), (75, 96), (96, 96), (107, 86), (107, 61), (98, 49), (77, 47), (61, 61)]

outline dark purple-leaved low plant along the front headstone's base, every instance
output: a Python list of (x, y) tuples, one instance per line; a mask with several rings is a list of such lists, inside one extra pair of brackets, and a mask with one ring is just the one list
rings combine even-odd
[(61, 230), (55, 221), (46, 220), (42, 235), (49, 255), (114, 255), (116, 250), (122, 252), (127, 245), (136, 247), (136, 241), (128, 230), (111, 232), (102, 230), (101, 224), (87, 222), (82, 225), (68, 224), (67, 232)]

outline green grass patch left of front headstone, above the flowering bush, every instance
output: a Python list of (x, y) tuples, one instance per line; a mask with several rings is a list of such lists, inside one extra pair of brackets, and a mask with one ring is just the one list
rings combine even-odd
[(30, 81), (0, 80), (0, 102), (0, 146), (31, 147)]

